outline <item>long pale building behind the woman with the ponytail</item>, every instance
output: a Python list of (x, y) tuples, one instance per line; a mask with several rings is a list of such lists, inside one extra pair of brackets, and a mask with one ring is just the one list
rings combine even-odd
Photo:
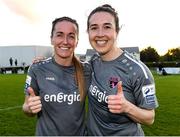
[[(53, 48), (50, 46), (24, 45), (24, 46), (0, 46), (0, 68), (29, 66), (35, 57), (49, 57), (52, 55)], [(9, 59), (12, 58), (13, 63), (10, 65)]]

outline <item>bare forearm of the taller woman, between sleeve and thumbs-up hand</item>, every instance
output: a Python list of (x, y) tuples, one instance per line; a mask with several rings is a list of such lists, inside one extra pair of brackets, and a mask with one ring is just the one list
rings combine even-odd
[(155, 112), (153, 109), (142, 109), (129, 102), (127, 109), (128, 116), (135, 122), (152, 125), (154, 122)]

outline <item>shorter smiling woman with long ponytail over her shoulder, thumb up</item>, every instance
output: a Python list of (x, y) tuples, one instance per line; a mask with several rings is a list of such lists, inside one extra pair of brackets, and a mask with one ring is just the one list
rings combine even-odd
[(23, 111), (27, 116), (38, 116), (38, 136), (86, 133), (85, 83), (90, 77), (90, 67), (74, 54), (78, 32), (76, 20), (66, 16), (56, 18), (51, 30), (54, 56), (29, 68)]

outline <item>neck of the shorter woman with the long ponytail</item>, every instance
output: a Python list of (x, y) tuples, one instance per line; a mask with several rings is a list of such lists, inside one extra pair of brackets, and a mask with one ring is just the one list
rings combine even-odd
[(72, 58), (73, 58), (73, 56), (71, 56), (69, 58), (62, 58), (57, 55), (54, 56), (56, 63), (59, 65), (62, 65), (62, 66), (71, 66), (73, 64)]

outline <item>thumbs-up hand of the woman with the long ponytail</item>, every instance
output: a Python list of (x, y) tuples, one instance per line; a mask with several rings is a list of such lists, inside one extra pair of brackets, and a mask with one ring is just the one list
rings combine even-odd
[(32, 87), (28, 87), (27, 91), (29, 92), (29, 97), (27, 99), (27, 107), (29, 112), (36, 114), (41, 111), (42, 104), (40, 96), (36, 96)]

